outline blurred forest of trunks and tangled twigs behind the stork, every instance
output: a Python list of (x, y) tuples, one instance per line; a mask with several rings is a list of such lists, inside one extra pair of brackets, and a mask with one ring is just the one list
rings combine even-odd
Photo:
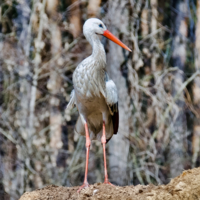
[[(200, 0), (1, 0), (0, 199), (82, 184), (85, 138), (73, 131), (77, 109), (65, 108), (92, 51), (82, 34), (90, 17), (133, 49), (102, 38), (119, 91), (110, 181), (166, 184), (200, 164)], [(103, 174), (93, 141), (89, 183)]]

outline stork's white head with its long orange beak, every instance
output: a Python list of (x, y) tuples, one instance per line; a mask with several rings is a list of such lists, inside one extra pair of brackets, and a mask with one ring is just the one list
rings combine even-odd
[(109, 40), (112, 40), (119, 46), (123, 47), (124, 49), (131, 51), (131, 49), (129, 49), (110, 31), (108, 31), (105, 24), (97, 18), (90, 18), (85, 22), (85, 24), (83, 25), (83, 34), (85, 35), (86, 38), (88, 38), (89, 35), (93, 35), (93, 34), (103, 35), (107, 37)]

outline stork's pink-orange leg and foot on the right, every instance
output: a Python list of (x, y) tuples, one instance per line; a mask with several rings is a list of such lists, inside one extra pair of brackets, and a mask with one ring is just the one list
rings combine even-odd
[(107, 165), (106, 165), (106, 129), (105, 129), (105, 122), (103, 122), (103, 134), (101, 137), (101, 143), (103, 144), (103, 157), (104, 157), (104, 174), (105, 174), (105, 184), (113, 185), (108, 180), (108, 172), (107, 172)]

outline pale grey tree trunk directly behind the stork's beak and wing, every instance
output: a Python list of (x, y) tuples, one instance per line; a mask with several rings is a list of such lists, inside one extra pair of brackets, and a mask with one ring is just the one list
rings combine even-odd
[[(110, 31), (119, 37), (117, 29), (126, 31), (128, 28), (127, 10), (122, 10), (126, 2), (110, 1), (108, 18), (113, 26)], [(122, 76), (120, 66), (124, 61), (123, 50), (115, 43), (109, 41), (107, 54), (107, 69), (109, 76), (115, 82), (118, 89), (119, 102), (119, 131), (109, 141), (109, 168), (110, 180), (117, 185), (128, 183), (128, 154), (129, 154), (129, 109), (130, 98), (126, 87), (126, 79)]]

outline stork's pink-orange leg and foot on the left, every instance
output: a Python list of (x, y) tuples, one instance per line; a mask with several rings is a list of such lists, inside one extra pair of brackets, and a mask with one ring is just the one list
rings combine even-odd
[(85, 163), (85, 178), (83, 185), (79, 187), (77, 192), (80, 192), (83, 188), (89, 187), (88, 181), (87, 181), (87, 174), (88, 174), (88, 160), (89, 160), (89, 151), (90, 151), (90, 136), (89, 136), (89, 131), (88, 131), (88, 126), (87, 123), (85, 123), (85, 136), (86, 136), (86, 163)]

